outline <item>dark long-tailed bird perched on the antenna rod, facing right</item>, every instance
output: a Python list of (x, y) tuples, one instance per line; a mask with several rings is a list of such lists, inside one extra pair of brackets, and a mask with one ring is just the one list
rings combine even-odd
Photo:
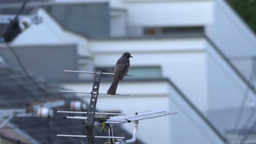
[(108, 94), (115, 95), (117, 91), (118, 82), (124, 79), (124, 76), (127, 75), (130, 67), (130, 57), (131, 54), (129, 52), (125, 52), (117, 61), (114, 68), (114, 80), (111, 86), (108, 89)]

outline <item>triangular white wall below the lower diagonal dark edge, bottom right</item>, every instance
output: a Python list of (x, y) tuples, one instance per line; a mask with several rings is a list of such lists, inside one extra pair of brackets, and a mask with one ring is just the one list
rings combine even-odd
[[(184, 99), (171, 86), (170, 109), (178, 115), (171, 117), (170, 143), (224, 143), (213, 130), (197, 115)], [(177, 97), (179, 95), (179, 97)]]

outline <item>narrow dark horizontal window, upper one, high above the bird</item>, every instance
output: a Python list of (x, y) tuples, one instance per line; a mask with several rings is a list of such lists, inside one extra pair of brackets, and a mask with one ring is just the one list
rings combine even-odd
[(145, 27), (144, 35), (170, 35), (170, 34), (188, 34), (203, 33), (202, 26), (192, 27)]

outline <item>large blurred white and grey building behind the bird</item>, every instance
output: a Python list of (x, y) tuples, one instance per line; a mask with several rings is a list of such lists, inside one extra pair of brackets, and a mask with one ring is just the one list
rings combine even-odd
[[(251, 111), (256, 39), (225, 1), (59, 0), (33, 11), (28, 14), (43, 22), (12, 46), (28, 70), (65, 88), (90, 92), (92, 77), (62, 70), (111, 73), (117, 59), (131, 53), (133, 77), (118, 87), (130, 96), (102, 96), (97, 107), (127, 114), (179, 111), (139, 123), (144, 143), (225, 143), (246, 91), (245, 111)], [(102, 77), (101, 92), (111, 80)], [(90, 95), (79, 96), (89, 101)], [(124, 128), (132, 132), (132, 125)]]

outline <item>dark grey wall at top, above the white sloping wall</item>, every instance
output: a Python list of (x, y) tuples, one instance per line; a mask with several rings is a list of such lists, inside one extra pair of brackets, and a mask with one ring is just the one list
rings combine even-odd
[(104, 3), (55, 4), (48, 12), (68, 31), (86, 36), (109, 36), (109, 5)]

